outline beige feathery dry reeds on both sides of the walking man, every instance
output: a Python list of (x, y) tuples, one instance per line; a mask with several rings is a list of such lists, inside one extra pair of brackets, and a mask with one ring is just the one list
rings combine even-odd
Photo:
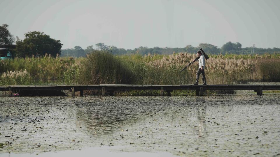
[[(148, 56), (145, 56), (146, 58)], [(150, 57), (152, 58), (152, 57)], [(196, 56), (189, 53), (178, 53), (163, 56), (160, 60), (150, 60), (146, 65), (179, 71)], [(270, 59), (268, 59), (270, 58)], [(147, 60), (147, 59), (145, 59)], [(206, 60), (206, 79), (208, 84), (244, 83), (247, 81), (279, 81), (279, 55), (215, 55)], [(192, 78), (198, 69), (198, 62), (186, 69)], [(178, 76), (178, 75), (177, 75)], [(176, 77), (176, 76), (175, 76)], [(194, 79), (193, 79), (194, 80)], [(189, 82), (190, 83), (190, 82)]]

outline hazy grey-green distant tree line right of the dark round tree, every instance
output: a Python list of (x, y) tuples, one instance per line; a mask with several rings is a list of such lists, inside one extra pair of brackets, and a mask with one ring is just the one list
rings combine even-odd
[[(245, 47), (242, 48), (241, 44), (239, 42), (232, 43), (227, 42), (224, 44), (221, 48), (218, 48), (217, 46), (214, 46), (212, 44), (207, 43), (201, 43), (197, 47), (193, 47), (192, 45), (187, 45), (183, 48), (161, 48), (161, 47), (154, 47), (154, 48), (148, 48), (148, 47), (138, 47), (135, 49), (122, 49), (117, 48), (115, 46), (108, 46), (104, 43), (98, 43), (95, 44), (98, 50), (106, 50), (108, 52), (111, 52), (115, 55), (132, 55), (132, 54), (140, 54), (140, 55), (148, 55), (150, 54), (172, 54), (173, 52), (188, 52), (188, 53), (196, 53), (200, 47), (207, 53), (207, 54), (263, 54), (263, 53), (280, 53), (279, 48), (251, 48), (251, 47)], [(93, 45), (88, 46), (86, 49), (82, 49), (80, 46), (75, 46), (74, 49), (62, 49), (61, 55), (62, 56), (74, 56), (74, 57), (80, 57), (80, 56), (86, 56), (87, 53), (92, 52)]]

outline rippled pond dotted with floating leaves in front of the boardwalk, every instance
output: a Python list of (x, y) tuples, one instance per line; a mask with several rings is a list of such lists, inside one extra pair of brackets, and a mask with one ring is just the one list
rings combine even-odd
[(279, 99), (278, 93), (1, 97), (0, 156), (279, 155)]

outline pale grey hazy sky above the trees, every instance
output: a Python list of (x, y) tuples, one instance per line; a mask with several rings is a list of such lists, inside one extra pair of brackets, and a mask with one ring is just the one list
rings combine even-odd
[(0, 25), (15, 37), (40, 31), (62, 49), (103, 42), (118, 48), (280, 47), (280, 0), (0, 0)]

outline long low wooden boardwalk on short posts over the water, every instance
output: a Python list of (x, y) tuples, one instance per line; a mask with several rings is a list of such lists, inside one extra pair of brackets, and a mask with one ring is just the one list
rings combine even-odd
[[(280, 85), (13, 85), (13, 86), (0, 86), (0, 91), (8, 91), (12, 96), (16, 92), (55, 92), (62, 90), (70, 90), (72, 97), (75, 92), (80, 92), (83, 96), (84, 90), (101, 90), (102, 96), (105, 94), (113, 94), (116, 90), (160, 90), (161, 95), (167, 92), (170, 96), (173, 90), (196, 90), (196, 95), (203, 95), (205, 90), (254, 90), (257, 95), (262, 95), (262, 90), (280, 90)], [(58, 95), (57, 95), (58, 96)]]

